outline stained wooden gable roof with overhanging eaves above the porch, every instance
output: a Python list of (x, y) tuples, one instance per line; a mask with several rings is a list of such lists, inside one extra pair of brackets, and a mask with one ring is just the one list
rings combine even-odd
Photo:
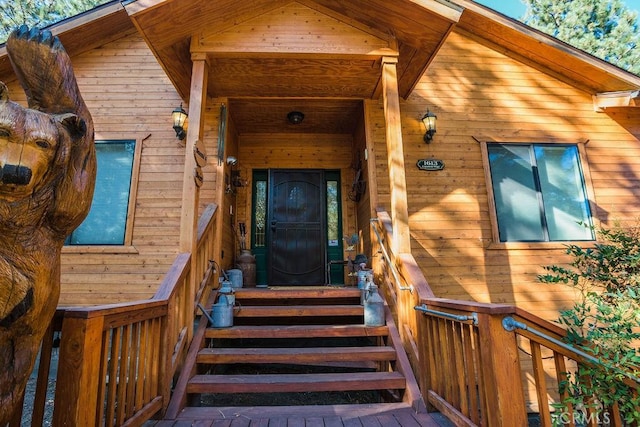
[[(277, 34), (282, 29), (262, 31), (268, 29), (270, 19), (286, 14), (291, 19), (296, 13), (315, 14), (315, 19), (330, 22), (336, 36), (354, 35), (341, 42), (351, 44), (338, 46), (335, 41), (323, 40), (321, 55), (312, 45), (296, 44), (295, 38), (304, 35), (309, 36), (307, 41), (311, 36), (331, 36), (314, 34), (318, 27), (303, 18), (298, 18), (299, 25), (289, 34)], [(249, 34), (256, 28), (266, 42), (255, 51), (247, 46), (227, 47), (226, 51), (218, 46), (216, 51), (213, 46), (216, 37), (239, 31)], [(640, 88), (640, 77), (471, 0), (113, 1), (50, 29), (71, 56), (138, 31), (184, 99), (189, 96), (191, 50), (197, 51), (199, 46), (213, 59), (211, 96), (244, 96), (246, 84), (258, 82), (262, 83), (260, 90), (270, 96), (316, 97), (321, 92), (328, 97), (375, 97), (379, 75), (371, 70), (383, 56), (395, 55), (400, 94), (407, 97), (454, 29), (594, 95)], [(278, 47), (275, 40), (280, 36), (290, 40)], [(272, 48), (265, 51), (267, 43)], [(364, 50), (370, 44), (373, 48)], [(260, 67), (254, 66), (256, 62)], [(307, 70), (306, 81), (300, 80), (296, 86), (291, 70)], [(10, 75), (2, 47), (0, 77)], [(300, 79), (304, 78), (303, 72)], [(316, 87), (314, 82), (319, 82)]]

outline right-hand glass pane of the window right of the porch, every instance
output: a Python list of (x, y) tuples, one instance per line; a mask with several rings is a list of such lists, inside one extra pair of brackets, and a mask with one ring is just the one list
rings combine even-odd
[(549, 240), (592, 240), (578, 148), (537, 145), (534, 150)]

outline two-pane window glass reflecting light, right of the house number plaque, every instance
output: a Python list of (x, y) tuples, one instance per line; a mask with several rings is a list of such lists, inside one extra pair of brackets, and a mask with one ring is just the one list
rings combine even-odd
[(576, 145), (487, 144), (501, 242), (593, 240)]

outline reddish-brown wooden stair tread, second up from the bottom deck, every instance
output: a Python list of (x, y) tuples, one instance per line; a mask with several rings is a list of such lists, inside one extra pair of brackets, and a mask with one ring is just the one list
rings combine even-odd
[(200, 363), (308, 363), (359, 362), (363, 360), (395, 360), (390, 346), (370, 347), (304, 347), (304, 348), (204, 348), (198, 354)]

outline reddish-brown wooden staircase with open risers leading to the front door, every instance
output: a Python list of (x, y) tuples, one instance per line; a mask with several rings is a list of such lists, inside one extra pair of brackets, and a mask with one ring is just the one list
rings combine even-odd
[(364, 326), (358, 289), (235, 291), (233, 326), (201, 318), (165, 419), (230, 406), (401, 402), (425, 410), (389, 310), (385, 326)]

